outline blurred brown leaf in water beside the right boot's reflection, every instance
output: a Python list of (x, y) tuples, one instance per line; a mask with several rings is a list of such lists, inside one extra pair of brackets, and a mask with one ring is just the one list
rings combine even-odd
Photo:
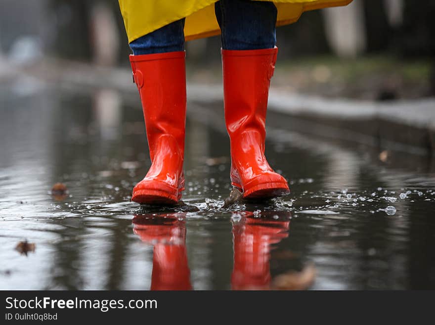
[(301, 272), (290, 271), (281, 274), (272, 280), (272, 290), (304, 290), (308, 288), (316, 278), (314, 264), (308, 264)]

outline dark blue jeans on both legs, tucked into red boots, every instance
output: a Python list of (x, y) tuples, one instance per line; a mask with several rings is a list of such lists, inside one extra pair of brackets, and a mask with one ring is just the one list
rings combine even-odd
[[(223, 49), (273, 48), (277, 10), (273, 2), (220, 0), (215, 14)], [(130, 43), (134, 55), (184, 50), (184, 21), (180, 19)]]

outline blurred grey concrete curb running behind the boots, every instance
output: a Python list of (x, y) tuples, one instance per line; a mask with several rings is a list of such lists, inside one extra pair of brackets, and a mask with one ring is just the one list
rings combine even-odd
[[(126, 97), (137, 92), (131, 70), (126, 68), (57, 59), (44, 59), (24, 68), (4, 60), (1, 63), (0, 81), (33, 76), (68, 90), (108, 88)], [(187, 98), (205, 107), (222, 107), (222, 86), (188, 83)], [(435, 98), (388, 102), (330, 99), (283, 93), (272, 86), (268, 105), (268, 122), (287, 130), (383, 150), (435, 153)]]

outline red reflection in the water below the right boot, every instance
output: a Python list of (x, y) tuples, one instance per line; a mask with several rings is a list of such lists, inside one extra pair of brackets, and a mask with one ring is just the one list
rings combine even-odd
[(290, 212), (273, 212), (273, 215), (280, 215), (278, 220), (273, 219), (272, 215), (254, 218), (252, 212), (245, 212), (245, 214), (248, 215), (233, 224), (232, 289), (269, 289), (270, 245), (288, 236)]

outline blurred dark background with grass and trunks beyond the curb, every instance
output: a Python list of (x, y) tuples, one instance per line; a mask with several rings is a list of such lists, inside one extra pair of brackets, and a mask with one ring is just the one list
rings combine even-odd
[[(354, 0), (306, 12), (277, 29), (275, 87), (362, 99), (435, 93), (435, 1)], [(219, 37), (187, 43), (188, 78), (220, 82)], [(62, 58), (128, 66), (115, 0), (2, 0), (0, 56), (22, 63)]]

